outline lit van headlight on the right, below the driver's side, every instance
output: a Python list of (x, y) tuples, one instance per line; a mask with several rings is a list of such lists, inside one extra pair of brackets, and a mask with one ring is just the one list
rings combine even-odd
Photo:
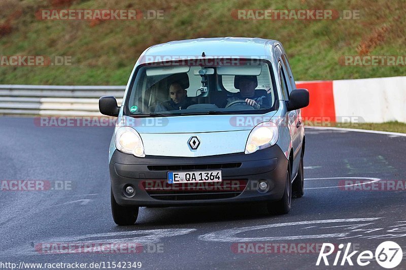
[(250, 154), (259, 149), (274, 145), (279, 138), (279, 130), (273, 122), (263, 122), (252, 129), (245, 146), (245, 153)]

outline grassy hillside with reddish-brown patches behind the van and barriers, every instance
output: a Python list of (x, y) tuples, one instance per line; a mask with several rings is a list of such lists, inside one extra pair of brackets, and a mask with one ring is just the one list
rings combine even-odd
[[(405, 75), (405, 66), (342, 66), (345, 55), (406, 55), (406, 1), (1, 0), (0, 55), (70, 56), (70, 66), (0, 66), (0, 84), (123, 85), (147, 47), (258, 36), (284, 44), (296, 80)], [(38, 20), (39, 9), (164, 10), (163, 20)], [(358, 20), (235, 20), (236, 9), (359, 10)]]

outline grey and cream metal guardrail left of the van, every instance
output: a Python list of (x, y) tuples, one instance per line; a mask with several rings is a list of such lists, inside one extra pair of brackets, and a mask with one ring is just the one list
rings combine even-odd
[(99, 116), (98, 99), (121, 104), (125, 86), (0, 85), (0, 114)]

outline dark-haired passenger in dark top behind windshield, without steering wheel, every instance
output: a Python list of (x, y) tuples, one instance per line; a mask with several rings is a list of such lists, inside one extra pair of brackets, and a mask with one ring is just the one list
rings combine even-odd
[(160, 102), (156, 106), (155, 112), (181, 110), (186, 109), (190, 105), (196, 104), (196, 102), (187, 97), (187, 91), (183, 89), (179, 82), (174, 82), (170, 85), (169, 97), (171, 98), (170, 100)]

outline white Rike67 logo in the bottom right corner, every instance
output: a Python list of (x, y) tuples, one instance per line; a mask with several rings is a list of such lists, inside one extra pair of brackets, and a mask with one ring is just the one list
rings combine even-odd
[[(402, 249), (400, 248), (400, 246), (392, 241), (385, 241), (381, 243), (375, 250), (375, 254), (370, 250), (365, 250), (359, 253), (358, 256), (354, 255), (357, 254), (359, 251), (353, 251), (350, 253), (351, 243), (347, 244), (345, 250), (344, 244), (340, 244), (338, 250), (334, 250), (335, 247), (336, 245), (333, 245), (331, 243), (323, 243), (323, 246), (321, 247), (319, 253), (319, 257), (317, 258), (316, 265), (320, 265), (321, 262), (323, 262), (324, 265), (329, 265), (327, 257), (334, 251), (335, 258), (332, 264), (334, 266), (347, 265), (347, 263), (348, 265), (354, 265), (352, 260), (356, 260), (356, 263), (359, 266), (366, 266), (371, 262), (371, 260), (374, 259), (375, 255), (375, 260), (378, 262), (379, 265), (384, 268), (394, 268), (400, 264), (403, 257)], [(340, 261), (340, 257), (343, 251), (344, 254)]]

